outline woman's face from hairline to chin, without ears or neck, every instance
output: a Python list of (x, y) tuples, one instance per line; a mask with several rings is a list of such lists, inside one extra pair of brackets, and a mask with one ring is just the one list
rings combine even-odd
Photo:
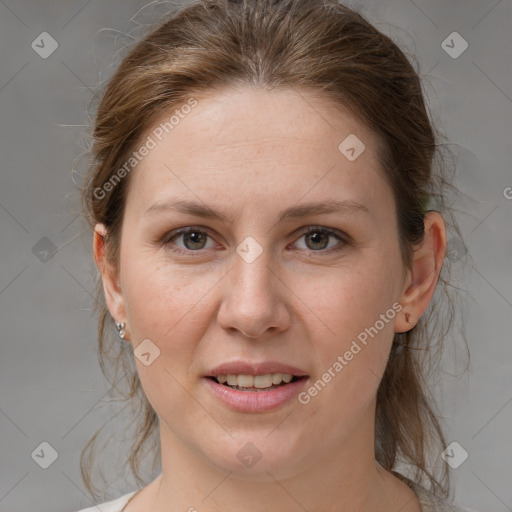
[[(406, 281), (374, 134), (307, 91), (195, 99), (172, 131), (157, 123), (143, 140), (155, 147), (132, 171), (120, 292), (109, 298), (127, 323), (163, 454), (179, 445), (264, 478), (373, 452)], [(329, 212), (315, 207), (326, 203)], [(258, 392), (211, 379), (281, 373), (302, 378)], [(282, 382), (231, 382), (272, 378)]]

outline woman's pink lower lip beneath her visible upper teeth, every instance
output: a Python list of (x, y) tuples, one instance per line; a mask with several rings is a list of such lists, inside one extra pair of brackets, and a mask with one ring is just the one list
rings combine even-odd
[(204, 380), (215, 396), (228, 407), (241, 412), (264, 412), (277, 409), (297, 396), (308, 377), (301, 377), (270, 391), (239, 391), (208, 377)]

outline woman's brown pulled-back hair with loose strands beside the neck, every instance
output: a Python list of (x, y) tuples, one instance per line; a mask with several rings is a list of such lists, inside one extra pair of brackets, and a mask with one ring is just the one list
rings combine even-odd
[[(95, 191), (112, 183), (116, 170), (163, 113), (194, 95), (246, 86), (313, 92), (333, 107), (349, 109), (378, 135), (379, 163), (396, 203), (404, 268), (411, 268), (433, 204), (460, 234), (446, 204), (445, 187), (451, 184), (444, 176), (441, 136), (429, 118), (419, 74), (390, 37), (335, 0), (199, 0), (172, 12), (130, 48), (97, 107), (93, 162), (81, 199), (89, 227), (103, 223), (108, 230), (106, 258), (114, 268), (119, 265), (131, 174), (104, 197)], [(446, 265), (425, 314), (410, 331), (394, 336), (375, 416), (377, 462), (389, 471), (408, 466), (412, 478), (426, 481), (441, 496), (449, 492), (446, 465), (439, 463), (445, 442), (427, 380), (453, 323)], [(142, 391), (131, 347), (115, 335), (101, 280), (96, 284), (98, 358), (107, 379), (114, 371), (111, 391), (133, 410), (137, 405), (127, 460), (141, 484), (145, 448), (150, 445), (153, 462), (158, 456), (158, 417)], [(126, 387), (121, 390), (122, 380)], [(82, 478), (93, 495), (94, 445), (100, 431), (80, 457)]]

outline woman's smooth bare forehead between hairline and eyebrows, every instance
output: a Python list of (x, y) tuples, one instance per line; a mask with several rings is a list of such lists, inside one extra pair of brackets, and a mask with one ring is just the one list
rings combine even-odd
[[(377, 137), (328, 99), (250, 87), (193, 98), (193, 108), (163, 113), (145, 134), (154, 147), (133, 171), (128, 202), (136, 196), (147, 208), (169, 192), (227, 205), (242, 198), (298, 202), (333, 187), (372, 200), (385, 185)], [(352, 147), (364, 148), (353, 160)]]

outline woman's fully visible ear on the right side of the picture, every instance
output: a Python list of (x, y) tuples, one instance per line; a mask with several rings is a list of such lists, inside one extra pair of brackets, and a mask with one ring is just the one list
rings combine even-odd
[[(395, 322), (395, 332), (410, 331), (427, 309), (446, 254), (446, 229), (438, 212), (427, 212), (424, 219), (425, 235), (415, 247), (412, 269), (404, 283), (400, 304), (402, 314)], [(409, 320), (409, 321), (407, 321)]]

